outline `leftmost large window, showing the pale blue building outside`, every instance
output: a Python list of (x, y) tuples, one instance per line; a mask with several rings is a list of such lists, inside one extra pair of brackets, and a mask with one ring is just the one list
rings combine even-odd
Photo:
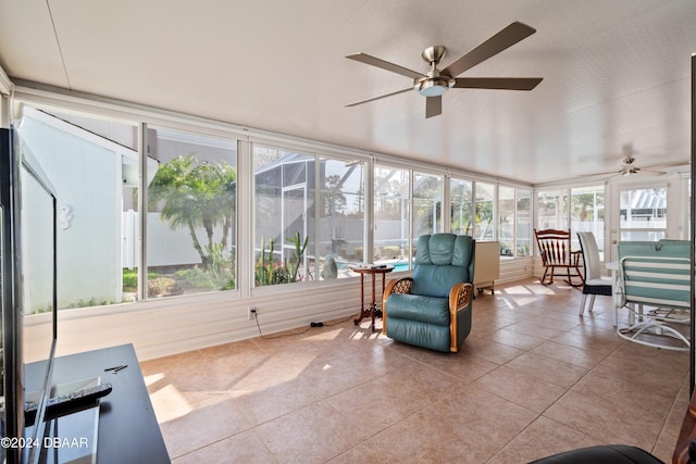
[[(137, 240), (124, 233), (138, 179), (130, 148), (137, 127), (28, 105), (22, 111), (23, 149), (58, 193), (59, 309), (136, 301)], [(29, 234), (27, 243), (35, 241)]]

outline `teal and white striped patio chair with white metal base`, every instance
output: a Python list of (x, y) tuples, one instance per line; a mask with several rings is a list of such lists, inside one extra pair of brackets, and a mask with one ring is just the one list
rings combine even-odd
[[(667, 350), (687, 351), (691, 341), (676, 324), (691, 321), (691, 243), (685, 240), (619, 243), (619, 293), (629, 309), (630, 324), (618, 328), (622, 338)], [(652, 308), (648, 312), (645, 306)], [(666, 336), (676, 339), (664, 341)], [(664, 341), (664, 342), (662, 342)]]

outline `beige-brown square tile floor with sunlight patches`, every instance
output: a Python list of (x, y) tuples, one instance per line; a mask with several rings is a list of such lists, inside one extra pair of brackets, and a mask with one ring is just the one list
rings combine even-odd
[(452, 354), (344, 319), (141, 367), (175, 464), (523, 463), (599, 443), (670, 462), (688, 354), (622, 340), (610, 298), (580, 317), (581, 297), (498, 286)]

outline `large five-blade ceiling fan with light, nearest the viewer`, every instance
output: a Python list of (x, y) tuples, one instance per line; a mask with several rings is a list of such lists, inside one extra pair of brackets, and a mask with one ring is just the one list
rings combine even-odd
[(446, 48), (443, 46), (428, 47), (423, 50), (421, 57), (431, 66), (426, 73), (411, 71), (398, 64), (371, 57), (365, 53), (349, 54), (348, 59), (359, 61), (364, 64), (381, 67), (396, 74), (400, 74), (413, 79), (413, 85), (395, 92), (386, 93), (380, 97), (370, 98), (368, 100), (358, 101), (347, 104), (346, 106), (356, 106), (358, 104), (368, 103), (386, 97), (405, 93), (415, 90), (425, 100), (425, 117), (437, 116), (443, 112), (443, 95), (450, 88), (468, 88), (468, 89), (498, 89), (498, 90), (532, 90), (540, 81), (540, 77), (457, 77), (464, 71), (472, 68), (476, 64), (500, 53), (502, 50), (515, 45), (520, 40), (531, 36), (536, 32), (535, 28), (526, 24), (514, 22), (502, 30), (488, 38), (486, 41), (469, 51), (459, 60), (451, 63), (444, 70), (439, 70), (440, 60), (445, 57)]

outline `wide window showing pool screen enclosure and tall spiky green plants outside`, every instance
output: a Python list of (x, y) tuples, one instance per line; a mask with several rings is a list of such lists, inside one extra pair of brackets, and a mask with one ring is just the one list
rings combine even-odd
[(364, 163), (253, 146), (254, 286), (349, 277), (364, 255)]

